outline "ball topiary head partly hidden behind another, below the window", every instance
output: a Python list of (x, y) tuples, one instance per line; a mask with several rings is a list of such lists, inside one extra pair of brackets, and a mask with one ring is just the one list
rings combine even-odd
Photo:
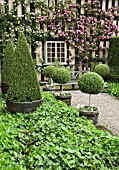
[(47, 66), (43, 70), (43, 74), (45, 77), (52, 78), (52, 74), (54, 71), (55, 67), (54, 66)]

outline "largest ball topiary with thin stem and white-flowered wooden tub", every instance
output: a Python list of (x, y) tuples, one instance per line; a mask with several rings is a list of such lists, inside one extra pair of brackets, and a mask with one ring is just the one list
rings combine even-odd
[(97, 124), (99, 110), (95, 106), (91, 106), (91, 94), (98, 94), (104, 87), (103, 78), (94, 72), (84, 73), (78, 80), (79, 90), (83, 93), (89, 94), (89, 102), (87, 106), (79, 107), (79, 113), (82, 116), (86, 116), (88, 119), (92, 119), (94, 124)]

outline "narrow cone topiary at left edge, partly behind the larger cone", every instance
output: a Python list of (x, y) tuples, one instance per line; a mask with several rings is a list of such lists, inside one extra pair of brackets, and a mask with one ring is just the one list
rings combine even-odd
[(2, 65), (2, 74), (1, 74), (1, 90), (3, 94), (7, 93), (9, 84), (11, 82), (11, 72), (15, 59), (14, 47), (11, 40), (8, 40), (8, 43), (5, 48), (5, 55), (3, 58)]

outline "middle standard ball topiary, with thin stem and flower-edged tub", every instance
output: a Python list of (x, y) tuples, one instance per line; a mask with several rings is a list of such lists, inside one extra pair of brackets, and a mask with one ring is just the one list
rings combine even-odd
[[(68, 81), (70, 81), (70, 78), (70, 71), (65, 68), (56, 68), (52, 76), (53, 81), (61, 85), (66, 84)], [(55, 93), (55, 97), (66, 102), (68, 105), (71, 105), (71, 94), (63, 92), (63, 86), (61, 87), (61, 92)]]

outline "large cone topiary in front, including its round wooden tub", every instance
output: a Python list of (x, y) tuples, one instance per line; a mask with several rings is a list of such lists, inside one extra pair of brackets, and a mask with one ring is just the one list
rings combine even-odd
[(18, 38), (11, 74), (12, 80), (7, 95), (8, 110), (11, 112), (35, 110), (41, 104), (42, 97), (32, 56), (22, 32)]

